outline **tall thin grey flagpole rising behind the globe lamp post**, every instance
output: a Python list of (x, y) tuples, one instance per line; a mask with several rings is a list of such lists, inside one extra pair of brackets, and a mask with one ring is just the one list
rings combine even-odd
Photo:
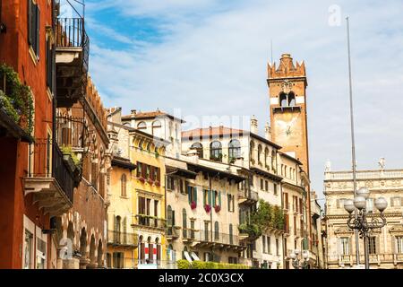
[[(356, 140), (354, 135), (354, 110), (353, 110), (353, 81), (351, 77), (351, 55), (350, 55), (350, 27), (347, 21), (347, 49), (348, 49), (348, 81), (350, 90), (350, 121), (351, 121), (351, 153), (353, 160), (353, 191), (356, 196)], [(357, 213), (356, 217), (357, 217)], [(360, 265), (360, 245), (359, 245), (358, 230), (356, 230), (356, 265)]]

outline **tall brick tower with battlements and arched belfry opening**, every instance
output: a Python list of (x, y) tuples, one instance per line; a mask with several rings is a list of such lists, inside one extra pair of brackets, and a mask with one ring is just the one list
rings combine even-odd
[(309, 175), (304, 62), (294, 65), (293, 58), (283, 54), (279, 67), (268, 66), (268, 74), (271, 139), (283, 147), (281, 152), (301, 161)]

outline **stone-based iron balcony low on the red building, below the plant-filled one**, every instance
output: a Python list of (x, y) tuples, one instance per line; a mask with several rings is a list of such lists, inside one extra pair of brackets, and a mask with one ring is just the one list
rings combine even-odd
[(45, 213), (61, 215), (73, 206), (73, 190), (78, 172), (55, 140), (36, 139), (30, 144), (29, 171), (24, 178), (25, 195), (33, 193)]

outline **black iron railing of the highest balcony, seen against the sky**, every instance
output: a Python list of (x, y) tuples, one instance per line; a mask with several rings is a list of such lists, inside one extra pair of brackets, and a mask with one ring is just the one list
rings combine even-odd
[(90, 38), (88, 37), (84, 19), (59, 18), (56, 26), (57, 48), (82, 48), (82, 64), (84, 71), (88, 71), (90, 58)]

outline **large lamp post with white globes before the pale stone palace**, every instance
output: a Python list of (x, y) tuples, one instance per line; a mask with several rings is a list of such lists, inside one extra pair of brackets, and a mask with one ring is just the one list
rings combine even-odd
[[(374, 229), (381, 229), (386, 225), (386, 218), (383, 214), (388, 202), (384, 197), (378, 197), (375, 200), (375, 207), (379, 210), (379, 215), (367, 215), (366, 200), (370, 195), (370, 191), (366, 187), (361, 187), (356, 191), (354, 199), (344, 201), (344, 208), (348, 215), (347, 225), (352, 230), (357, 230), (361, 239), (364, 239), (364, 259), (365, 269), (369, 269), (369, 235)], [(356, 215), (353, 214), (356, 212)], [(358, 244), (356, 244), (358, 246)], [(358, 259), (357, 259), (358, 260)]]

